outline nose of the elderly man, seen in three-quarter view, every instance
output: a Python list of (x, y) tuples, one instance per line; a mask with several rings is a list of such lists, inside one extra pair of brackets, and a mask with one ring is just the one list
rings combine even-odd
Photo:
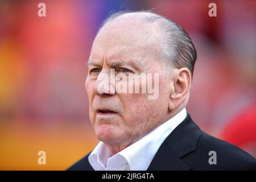
[(113, 71), (100, 72), (97, 80), (94, 82), (93, 92), (98, 96), (113, 96), (115, 94), (115, 75), (113, 75)]

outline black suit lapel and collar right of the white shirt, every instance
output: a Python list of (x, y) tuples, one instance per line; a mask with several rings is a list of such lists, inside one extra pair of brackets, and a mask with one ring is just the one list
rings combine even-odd
[(189, 116), (164, 140), (147, 170), (184, 170), (191, 166), (181, 159), (196, 150), (197, 140), (202, 131)]

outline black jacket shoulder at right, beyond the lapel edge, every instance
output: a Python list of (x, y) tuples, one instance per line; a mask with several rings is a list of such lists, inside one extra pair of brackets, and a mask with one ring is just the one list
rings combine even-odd
[(256, 170), (253, 156), (204, 132), (197, 142), (196, 150), (184, 156), (183, 160), (191, 164), (192, 170)]

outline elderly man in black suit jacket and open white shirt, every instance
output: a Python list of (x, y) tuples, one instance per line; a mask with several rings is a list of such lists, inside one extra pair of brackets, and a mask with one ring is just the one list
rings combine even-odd
[[(177, 23), (148, 11), (111, 15), (94, 39), (85, 81), (101, 142), (69, 169), (256, 169), (253, 156), (204, 133), (187, 113), (195, 61), (196, 49)], [(117, 92), (124, 81), (141, 90), (150, 82), (132, 80), (142, 74), (157, 75), (150, 77), (157, 97)]]

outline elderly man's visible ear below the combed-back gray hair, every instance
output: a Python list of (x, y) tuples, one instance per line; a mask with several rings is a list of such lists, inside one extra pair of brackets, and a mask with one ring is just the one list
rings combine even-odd
[(192, 79), (188, 68), (175, 69), (173, 74), (169, 101), (170, 110), (176, 109), (186, 100), (191, 88)]

